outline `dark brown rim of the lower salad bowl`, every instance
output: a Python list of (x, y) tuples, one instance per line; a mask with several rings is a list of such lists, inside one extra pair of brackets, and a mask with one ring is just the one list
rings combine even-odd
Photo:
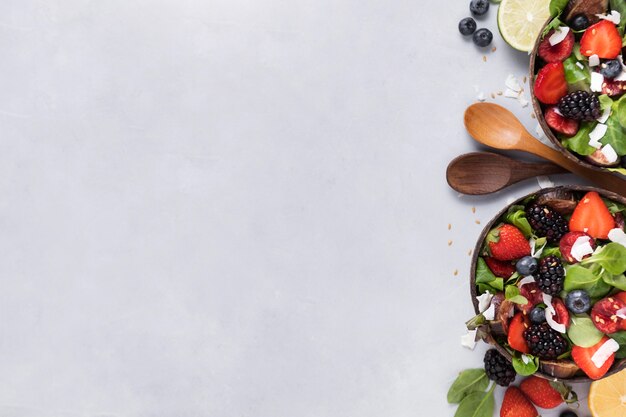
[[(543, 188), (543, 189), (539, 189), (531, 193), (528, 193), (520, 198), (517, 198), (515, 201), (506, 204), (506, 206), (502, 210), (498, 211), (498, 213), (496, 213), (496, 215), (489, 222), (485, 224), (482, 232), (480, 233), (478, 237), (476, 246), (474, 247), (474, 251), (472, 253), (469, 286), (470, 286), (470, 296), (472, 297), (472, 305), (474, 306), (474, 312), (476, 314), (480, 314), (480, 311), (478, 310), (478, 300), (476, 299), (476, 296), (478, 295), (478, 291), (476, 288), (476, 266), (478, 264), (478, 258), (481, 254), (483, 242), (485, 241), (485, 238), (487, 237), (487, 234), (489, 233), (489, 231), (496, 224), (496, 222), (498, 222), (498, 220), (508, 211), (508, 209), (511, 206), (519, 205), (521, 202), (523, 202), (524, 200), (532, 196), (538, 196), (538, 195), (547, 194), (547, 193), (554, 192), (554, 191), (561, 191), (561, 190), (583, 192), (583, 193), (589, 192), (589, 191), (596, 191), (605, 198), (608, 198), (610, 200), (615, 200), (619, 203), (626, 205), (626, 197), (624, 196), (613, 193), (611, 191), (603, 190), (598, 187), (584, 186), (584, 185), (561, 185), (557, 187)], [(490, 328), (488, 327), (488, 329)], [(509, 362), (512, 361), (511, 354), (504, 347), (502, 347), (499, 343), (497, 343), (495, 338), (491, 335), (490, 331), (487, 332), (486, 342), (492, 345), (493, 347), (495, 347), (498, 350), (498, 352), (500, 352)], [(550, 362), (554, 362), (554, 361), (540, 360), (540, 363), (544, 363), (544, 364), (550, 363)], [(570, 359), (570, 360), (567, 360), (566, 362), (571, 363), (573, 361)], [(606, 373), (606, 375), (603, 376), (603, 378), (613, 375), (623, 369), (626, 369), (626, 358), (620, 361), (616, 361), (613, 364), (612, 369), (610, 369)], [(561, 381), (566, 381), (566, 382), (591, 382), (592, 381), (591, 378), (587, 376), (583, 376), (583, 375), (573, 376), (570, 378), (558, 378), (558, 377), (555, 377), (553, 375), (543, 372), (541, 370), (541, 366), (540, 366), (540, 369), (537, 372), (535, 372), (533, 375), (536, 375), (545, 379), (561, 380)]]

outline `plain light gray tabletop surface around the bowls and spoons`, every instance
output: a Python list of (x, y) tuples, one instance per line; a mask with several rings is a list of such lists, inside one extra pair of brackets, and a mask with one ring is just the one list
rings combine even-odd
[(465, 3), (4, 0), (0, 415), (452, 416)]

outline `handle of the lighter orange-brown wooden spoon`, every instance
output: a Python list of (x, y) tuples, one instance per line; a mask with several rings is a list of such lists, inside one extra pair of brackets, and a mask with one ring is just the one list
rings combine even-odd
[(601, 188), (626, 196), (626, 180), (609, 172), (593, 171), (589, 168), (579, 165), (576, 162), (568, 159), (560, 152), (539, 142), (537, 139), (530, 136), (530, 134), (528, 134), (528, 137), (523, 142), (524, 144), (519, 148), (519, 150), (541, 156), (549, 161), (554, 162), (557, 165), (562, 166), (563, 168), (573, 172), (576, 175), (593, 181)]

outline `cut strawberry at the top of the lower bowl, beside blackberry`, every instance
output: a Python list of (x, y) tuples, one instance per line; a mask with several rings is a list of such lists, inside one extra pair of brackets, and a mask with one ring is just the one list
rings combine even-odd
[(614, 228), (615, 219), (595, 191), (588, 192), (578, 202), (569, 221), (570, 231), (585, 232), (596, 239), (608, 239), (609, 232)]

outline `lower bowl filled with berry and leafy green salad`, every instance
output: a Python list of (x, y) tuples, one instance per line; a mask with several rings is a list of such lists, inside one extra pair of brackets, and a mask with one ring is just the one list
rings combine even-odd
[(626, 199), (557, 187), (506, 207), (472, 260), (483, 339), (521, 375), (595, 380), (626, 368)]

